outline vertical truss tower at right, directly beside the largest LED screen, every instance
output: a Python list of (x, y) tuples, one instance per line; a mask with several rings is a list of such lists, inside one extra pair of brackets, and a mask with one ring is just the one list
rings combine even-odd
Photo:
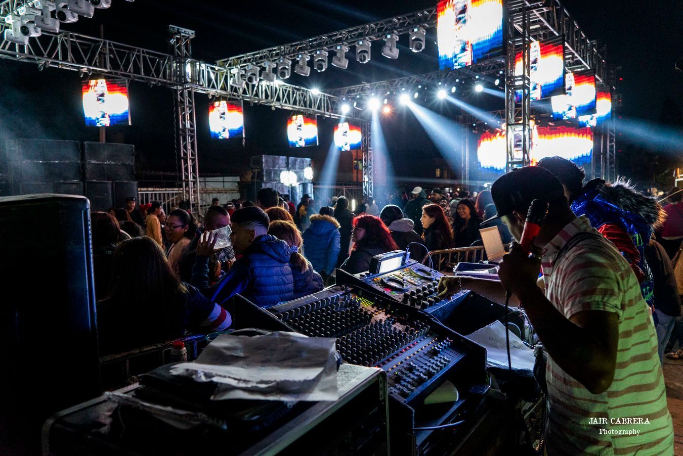
[[(521, 29), (518, 33), (516, 25)], [(531, 67), (529, 56), (529, 12), (508, 12), (507, 61), (505, 62), (505, 139), (507, 160), (505, 171), (531, 165)], [(522, 51), (522, 74), (515, 74), (516, 51)], [(515, 100), (520, 91), (520, 102)]]

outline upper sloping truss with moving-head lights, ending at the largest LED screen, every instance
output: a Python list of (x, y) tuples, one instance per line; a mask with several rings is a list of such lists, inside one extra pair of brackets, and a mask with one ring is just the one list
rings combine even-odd
[(436, 8), (428, 8), (402, 16), (378, 20), (374, 23), (326, 33), (307, 40), (275, 46), (262, 51), (236, 55), (217, 61), (217, 65), (234, 68), (245, 66), (249, 63), (260, 65), (266, 61), (277, 61), (281, 57), (294, 60), (300, 53), (312, 54), (318, 49), (330, 52), (335, 51), (337, 44), (354, 44), (361, 39), (381, 40), (387, 33), (396, 33), (397, 35), (408, 34), (416, 25), (425, 29), (436, 27)]

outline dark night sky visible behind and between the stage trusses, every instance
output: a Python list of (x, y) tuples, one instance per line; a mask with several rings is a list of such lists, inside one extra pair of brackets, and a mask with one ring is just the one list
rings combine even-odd
[[(296, 4), (295, 4), (296, 3)], [(329, 31), (344, 29), (429, 8), (435, 1), (143, 1), (130, 3), (113, 0), (109, 10), (96, 10), (92, 19), (63, 25), (64, 30), (97, 36), (100, 23), (109, 40), (154, 51), (168, 51), (169, 24), (194, 29), (193, 57), (212, 62), (216, 59), (257, 51), (261, 48), (302, 40)], [(621, 67), (617, 93), (622, 94), (619, 115), (652, 122), (666, 122), (681, 128), (680, 104), (683, 100), (683, 73), (674, 70), (683, 56), (683, 4), (680, 0), (564, 2), (587, 36), (607, 45), (608, 60)], [(434, 30), (428, 33), (426, 50), (411, 53), (406, 37), (400, 39), (400, 56), (391, 61), (380, 55), (381, 44), (373, 46), (372, 61), (363, 66), (351, 52), (348, 70), (330, 68), (309, 78), (292, 76), (289, 83), (304, 87), (326, 88), (380, 81), (408, 74), (438, 70)], [(97, 128), (86, 128), (80, 98), (81, 79), (76, 72), (48, 69), (0, 60), (0, 142), (22, 137), (97, 141)], [(469, 98), (468, 98), (469, 97)], [(494, 97), (466, 95), (471, 104), (502, 109)], [(245, 145), (231, 139), (219, 141), (208, 136), (206, 117), (208, 98), (197, 95), (197, 124), (200, 173), (235, 173), (245, 167), (254, 154), (291, 154), (311, 156), (319, 168), (324, 161), (334, 121), (319, 117), (320, 145), (301, 150), (286, 147), (285, 118), (290, 111), (271, 111), (263, 106), (245, 106)], [(426, 104), (430, 109), (432, 108)], [(677, 111), (678, 110), (678, 111)], [(176, 171), (174, 146), (173, 92), (164, 87), (130, 83), (130, 113), (133, 126), (111, 127), (108, 141), (133, 143), (137, 149), (137, 171)], [(447, 116), (456, 109), (441, 109)], [(676, 125), (678, 124), (678, 126)], [(403, 177), (432, 176), (439, 154), (426, 132), (412, 114), (396, 111), (382, 119), (382, 129), (395, 172)], [(617, 139), (619, 141), (619, 139)], [(617, 143), (618, 144), (618, 143)], [(674, 163), (671, 152), (647, 150), (659, 160), (658, 169), (642, 170), (632, 166), (647, 149), (642, 142), (629, 145), (622, 141), (619, 171), (637, 180), (669, 172)], [(683, 163), (678, 163), (683, 165)], [(654, 166), (654, 165), (653, 165)]]

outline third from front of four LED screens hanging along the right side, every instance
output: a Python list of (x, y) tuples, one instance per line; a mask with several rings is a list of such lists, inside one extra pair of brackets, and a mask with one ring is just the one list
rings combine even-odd
[(553, 119), (576, 119), (596, 112), (596, 76), (592, 71), (565, 76), (565, 94), (550, 98)]

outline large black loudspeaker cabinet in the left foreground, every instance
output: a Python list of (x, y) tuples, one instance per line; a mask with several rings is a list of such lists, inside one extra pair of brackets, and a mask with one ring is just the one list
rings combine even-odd
[(0, 453), (29, 454), (47, 416), (100, 393), (88, 201), (0, 198), (0, 236)]

